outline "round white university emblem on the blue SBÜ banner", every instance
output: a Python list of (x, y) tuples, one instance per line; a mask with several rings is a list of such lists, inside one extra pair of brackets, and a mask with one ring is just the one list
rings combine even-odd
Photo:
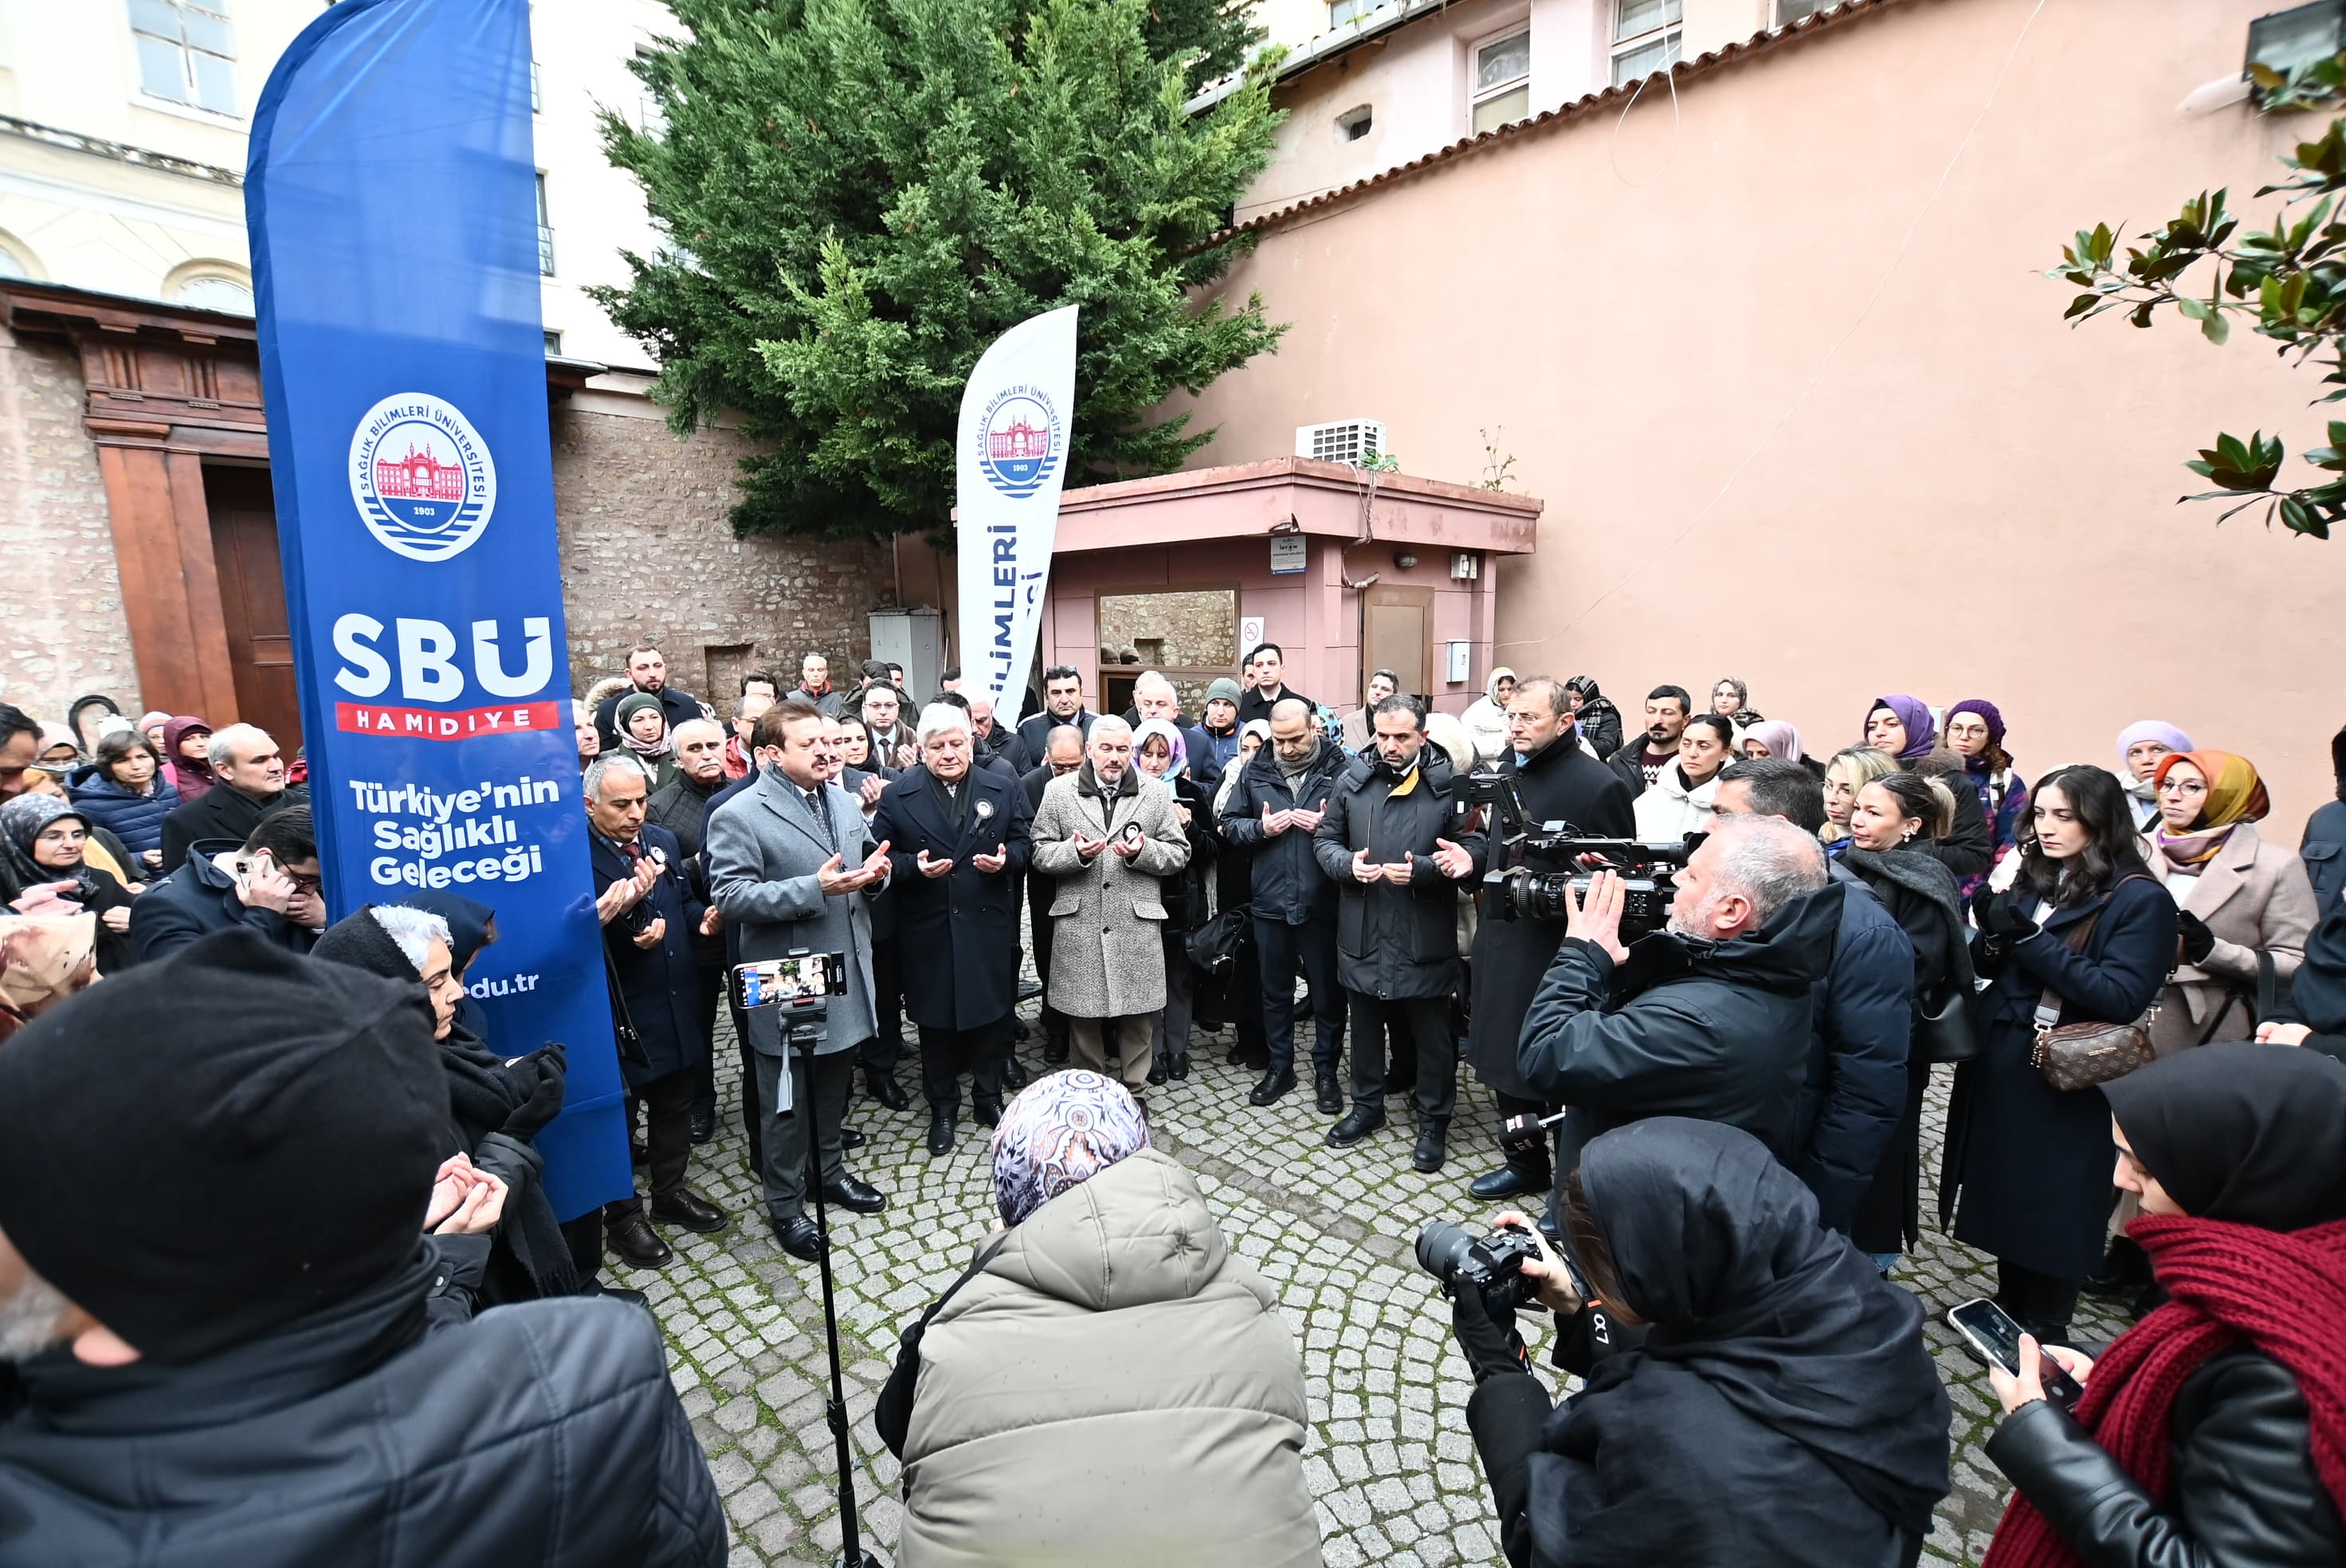
[(368, 533), (411, 561), (472, 547), (497, 507), (497, 465), (455, 404), (399, 392), (350, 437), (350, 498)]

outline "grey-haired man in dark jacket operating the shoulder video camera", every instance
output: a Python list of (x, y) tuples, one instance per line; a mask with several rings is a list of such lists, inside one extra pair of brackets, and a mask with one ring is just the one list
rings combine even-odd
[(1621, 878), (1565, 892), (1555, 962), (1523, 1016), (1516, 1061), (1567, 1103), (1565, 1153), (1649, 1115), (1727, 1122), (1795, 1160), (1811, 986), (1842, 925), (1813, 836), (1722, 817), (1677, 873), (1670, 922), (1621, 946)]

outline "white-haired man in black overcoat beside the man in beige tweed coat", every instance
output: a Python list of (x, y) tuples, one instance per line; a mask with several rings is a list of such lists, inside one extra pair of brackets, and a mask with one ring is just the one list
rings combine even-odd
[(920, 1026), (920, 1087), (929, 1099), (929, 1153), (952, 1150), (962, 1073), (981, 1127), (1002, 1120), (1002, 1063), (1018, 1002), (1018, 873), (1028, 822), (1018, 786), (974, 765), (969, 714), (950, 702), (920, 711), (920, 763), (880, 791), (873, 833), (887, 840), (903, 1002)]

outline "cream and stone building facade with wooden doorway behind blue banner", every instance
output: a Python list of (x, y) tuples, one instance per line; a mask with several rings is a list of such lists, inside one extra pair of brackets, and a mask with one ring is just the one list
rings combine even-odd
[[(298, 732), (242, 169), (253, 103), (319, 0), (0, 0), (0, 699), (84, 692)], [(673, 437), (586, 298), (659, 235), (596, 115), (657, 0), (533, 12), (540, 268), (570, 664), (657, 641), (680, 685), (868, 650), (894, 552), (737, 540), (727, 430)], [(420, 477), (429, 484), (429, 477)], [(723, 690), (708, 690), (711, 685)]]

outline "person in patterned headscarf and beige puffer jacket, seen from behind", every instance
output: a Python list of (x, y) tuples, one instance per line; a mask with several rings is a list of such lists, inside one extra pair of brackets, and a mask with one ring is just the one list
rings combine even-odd
[(924, 1319), (910, 1411), (882, 1401), (899, 1568), (1316, 1568), (1295, 1336), (1140, 1106), (1039, 1077), (992, 1176), (1002, 1225)]

